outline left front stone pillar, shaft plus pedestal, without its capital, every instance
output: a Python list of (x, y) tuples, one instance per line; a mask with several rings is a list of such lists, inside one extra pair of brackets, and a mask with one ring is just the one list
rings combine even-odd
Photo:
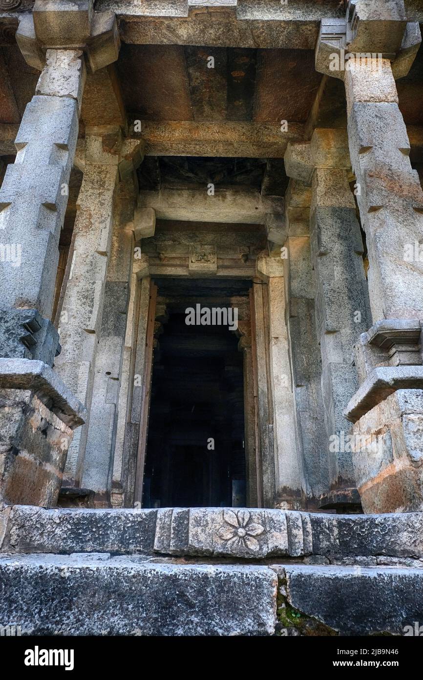
[[(52, 371), (58, 241), (78, 135), (84, 59), (47, 50), (0, 190), (0, 501), (54, 505), (86, 412)], [(50, 366), (48, 365), (50, 364)]]

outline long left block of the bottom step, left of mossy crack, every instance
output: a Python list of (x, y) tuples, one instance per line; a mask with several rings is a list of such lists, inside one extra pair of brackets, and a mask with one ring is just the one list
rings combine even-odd
[(22, 634), (270, 635), (276, 622), (264, 566), (33, 555), (3, 557), (0, 574), (0, 619)]

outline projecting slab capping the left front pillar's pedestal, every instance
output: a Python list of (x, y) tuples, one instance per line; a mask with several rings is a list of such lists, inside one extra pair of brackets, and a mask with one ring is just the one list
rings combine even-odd
[(84, 424), (87, 418), (84, 406), (42, 361), (0, 358), (0, 388), (35, 392), (39, 400), (72, 429)]

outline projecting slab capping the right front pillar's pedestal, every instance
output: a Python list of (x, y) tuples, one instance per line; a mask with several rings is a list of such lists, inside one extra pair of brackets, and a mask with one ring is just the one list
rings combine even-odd
[(354, 423), (392, 392), (422, 388), (423, 366), (375, 368), (348, 403), (345, 416)]

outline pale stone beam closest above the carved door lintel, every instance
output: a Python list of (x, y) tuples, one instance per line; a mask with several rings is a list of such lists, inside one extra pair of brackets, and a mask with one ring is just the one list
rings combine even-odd
[(264, 224), (266, 215), (284, 211), (284, 201), (253, 190), (217, 189), (214, 195), (209, 195), (204, 186), (204, 189), (141, 191), (138, 207), (152, 208), (158, 220)]

